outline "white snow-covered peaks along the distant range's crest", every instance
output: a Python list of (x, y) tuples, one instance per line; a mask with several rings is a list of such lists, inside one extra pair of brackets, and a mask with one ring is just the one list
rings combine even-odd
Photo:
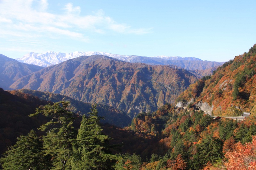
[[(51, 65), (55, 65), (61, 62), (64, 62), (66, 60), (69, 60), (71, 58), (76, 58), (79, 56), (90, 56), (90, 55), (105, 55), (108, 57), (116, 58), (122, 61), (126, 62), (140, 62), (142, 58), (151, 58), (151, 57), (143, 57), (143, 56), (136, 56), (136, 55), (118, 55), (118, 54), (111, 54), (111, 53), (105, 53), (105, 52), (93, 52), (93, 51), (88, 51), (88, 52), (73, 52), (73, 53), (56, 53), (54, 51), (47, 51), (45, 53), (39, 54), (39, 53), (28, 53), (24, 55), (21, 58), (17, 58), (16, 60), (22, 63), (28, 63), (28, 64), (34, 64), (34, 65), (39, 65), (43, 67), (48, 67)], [(202, 61), (199, 58), (194, 58), (194, 57), (178, 57), (178, 56), (155, 56), (155, 58), (160, 58), (163, 60), (199, 60)]]

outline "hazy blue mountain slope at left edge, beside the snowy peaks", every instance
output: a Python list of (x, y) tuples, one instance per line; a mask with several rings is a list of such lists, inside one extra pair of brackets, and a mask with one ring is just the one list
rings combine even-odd
[(42, 68), (32, 64), (20, 63), (15, 59), (0, 54), (0, 87), (7, 90), (17, 79)]

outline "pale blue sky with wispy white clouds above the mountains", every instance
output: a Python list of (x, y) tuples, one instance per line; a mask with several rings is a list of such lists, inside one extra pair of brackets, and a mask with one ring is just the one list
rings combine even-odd
[(255, 0), (0, 0), (0, 53), (102, 51), (228, 61), (256, 43)]

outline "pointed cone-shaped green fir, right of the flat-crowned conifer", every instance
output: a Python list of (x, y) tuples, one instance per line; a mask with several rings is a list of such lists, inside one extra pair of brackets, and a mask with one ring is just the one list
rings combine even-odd
[(116, 156), (110, 152), (109, 137), (102, 134), (97, 105), (92, 104), (90, 116), (83, 116), (73, 145), (72, 169), (113, 169)]

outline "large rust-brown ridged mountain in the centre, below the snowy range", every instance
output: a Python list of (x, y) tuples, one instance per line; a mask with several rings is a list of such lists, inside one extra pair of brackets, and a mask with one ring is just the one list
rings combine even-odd
[(173, 103), (196, 81), (187, 70), (127, 63), (102, 55), (81, 56), (24, 76), (12, 89), (60, 93), (73, 99), (116, 107), (131, 117)]

